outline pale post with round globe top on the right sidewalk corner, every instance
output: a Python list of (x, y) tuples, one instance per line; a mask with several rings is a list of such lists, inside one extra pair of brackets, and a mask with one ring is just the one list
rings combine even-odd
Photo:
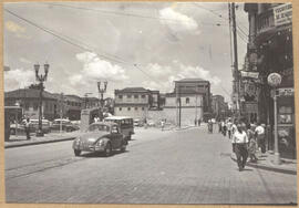
[(271, 73), (267, 77), (268, 84), (274, 87), (272, 98), (274, 98), (274, 111), (275, 111), (275, 160), (274, 163), (281, 164), (280, 154), (278, 148), (278, 134), (277, 134), (277, 87), (281, 83), (281, 75), (278, 73)]

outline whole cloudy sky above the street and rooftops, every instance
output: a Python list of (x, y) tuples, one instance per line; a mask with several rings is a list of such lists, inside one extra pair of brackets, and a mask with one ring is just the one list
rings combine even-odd
[[(237, 3), (239, 33), (248, 33)], [(172, 92), (184, 77), (210, 81), (229, 101), (230, 42), (227, 3), (32, 2), (4, 4), (4, 91), (34, 83), (33, 64), (50, 64), (48, 91), (93, 93), (115, 89)], [(241, 31), (240, 31), (241, 30)], [(243, 38), (243, 39), (241, 39)], [(239, 67), (246, 52), (238, 38)]]

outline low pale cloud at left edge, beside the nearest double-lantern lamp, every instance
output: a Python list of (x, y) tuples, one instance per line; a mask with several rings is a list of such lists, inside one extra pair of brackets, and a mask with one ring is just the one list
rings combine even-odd
[(4, 91), (27, 87), (34, 83), (35, 75), (32, 70), (16, 69), (4, 72)]

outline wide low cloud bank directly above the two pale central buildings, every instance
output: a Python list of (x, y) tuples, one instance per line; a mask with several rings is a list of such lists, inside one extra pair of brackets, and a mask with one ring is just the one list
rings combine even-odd
[(174, 81), (182, 79), (198, 77), (209, 81), (214, 86), (219, 85), (221, 82), (218, 76), (213, 75), (208, 70), (198, 65), (185, 65), (176, 60), (173, 63), (175, 63), (174, 66), (159, 65), (157, 63), (148, 64), (146, 71), (153, 77), (153, 81), (144, 81), (143, 85), (155, 90), (165, 89), (165, 92), (171, 92), (173, 91)]

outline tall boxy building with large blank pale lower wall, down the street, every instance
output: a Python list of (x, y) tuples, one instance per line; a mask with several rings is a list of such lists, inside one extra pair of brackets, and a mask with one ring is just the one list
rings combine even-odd
[(202, 79), (175, 81), (175, 89), (166, 93), (164, 111), (177, 125), (194, 124), (210, 112), (210, 84)]

